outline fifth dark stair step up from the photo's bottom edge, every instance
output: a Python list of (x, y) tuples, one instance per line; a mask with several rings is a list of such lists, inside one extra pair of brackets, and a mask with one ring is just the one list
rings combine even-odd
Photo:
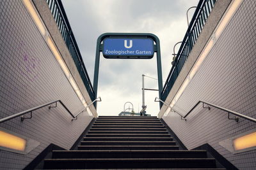
[(173, 141), (173, 138), (147, 138), (147, 137), (86, 137), (84, 141)]

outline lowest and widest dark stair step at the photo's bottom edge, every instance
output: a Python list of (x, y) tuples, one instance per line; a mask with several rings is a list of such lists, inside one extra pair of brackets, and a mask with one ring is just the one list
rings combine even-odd
[(215, 167), (215, 160), (205, 159), (45, 159), (45, 169), (109, 168), (191, 168)]

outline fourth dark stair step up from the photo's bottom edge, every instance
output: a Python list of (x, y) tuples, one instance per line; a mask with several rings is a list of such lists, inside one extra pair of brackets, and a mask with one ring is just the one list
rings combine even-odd
[(175, 141), (81, 141), (81, 145), (90, 146), (90, 145), (125, 145), (125, 146), (134, 146), (134, 145), (169, 145), (175, 146)]

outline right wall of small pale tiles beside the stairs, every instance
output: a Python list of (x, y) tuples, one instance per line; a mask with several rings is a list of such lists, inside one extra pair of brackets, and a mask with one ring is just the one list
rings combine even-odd
[[(256, 118), (256, 1), (244, 0), (174, 109), (185, 115), (199, 100)], [(227, 113), (198, 106), (185, 122), (175, 113), (163, 117), (187, 148), (209, 143), (239, 169), (256, 168), (256, 150), (228, 152), (218, 143), (256, 124), (243, 118), (228, 120)]]

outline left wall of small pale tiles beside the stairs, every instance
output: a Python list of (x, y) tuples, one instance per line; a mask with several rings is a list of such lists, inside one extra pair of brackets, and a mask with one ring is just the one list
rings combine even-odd
[[(83, 109), (22, 1), (0, 1), (0, 25), (0, 118), (56, 99), (74, 115)], [(84, 112), (78, 120), (71, 119), (58, 104), (51, 110), (36, 110), (31, 120), (1, 123), (9, 131), (39, 141), (40, 146), (28, 155), (0, 150), (0, 169), (23, 169), (51, 143), (69, 149), (92, 117)]]

